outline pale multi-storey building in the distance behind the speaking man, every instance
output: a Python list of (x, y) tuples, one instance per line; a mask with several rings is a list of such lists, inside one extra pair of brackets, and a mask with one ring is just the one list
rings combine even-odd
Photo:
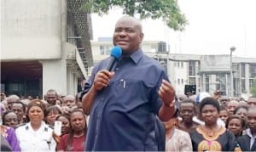
[[(99, 38), (91, 42), (95, 63), (109, 56), (113, 48), (112, 38)], [(185, 87), (195, 86), (195, 93), (220, 91), (228, 96), (247, 98), (256, 77), (256, 58), (232, 57), (230, 54), (196, 55), (170, 53), (168, 45), (159, 41), (143, 41), (141, 48), (148, 56), (158, 60), (166, 68), (177, 93), (184, 93)], [(230, 70), (233, 81), (230, 81)], [(233, 88), (230, 90), (230, 82)]]

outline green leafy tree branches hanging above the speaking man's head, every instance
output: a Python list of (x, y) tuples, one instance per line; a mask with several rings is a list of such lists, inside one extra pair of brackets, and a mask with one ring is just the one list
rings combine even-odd
[(177, 0), (88, 0), (83, 9), (99, 15), (108, 14), (111, 8), (123, 8), (123, 14), (140, 18), (161, 19), (175, 31), (183, 31), (188, 21), (177, 5)]

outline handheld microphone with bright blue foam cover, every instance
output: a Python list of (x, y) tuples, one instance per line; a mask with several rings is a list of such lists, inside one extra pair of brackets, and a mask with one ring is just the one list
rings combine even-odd
[(112, 48), (112, 51), (110, 53), (110, 60), (108, 62), (107, 70), (112, 71), (113, 70), (113, 65), (116, 64), (117, 60), (121, 57), (122, 55), (122, 48), (115, 46)]

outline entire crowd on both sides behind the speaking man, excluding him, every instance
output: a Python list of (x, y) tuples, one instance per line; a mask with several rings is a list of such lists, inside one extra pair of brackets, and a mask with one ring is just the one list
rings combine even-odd
[[(81, 100), (60, 97), (53, 89), (44, 97), (3, 98), (1, 138), (13, 151), (84, 151), (89, 116), (84, 115)], [(209, 94), (199, 102), (195, 96), (180, 97), (179, 110), (163, 122), (166, 151), (256, 150), (256, 96), (245, 101)], [(62, 124), (59, 136), (53, 130), (55, 121)]]

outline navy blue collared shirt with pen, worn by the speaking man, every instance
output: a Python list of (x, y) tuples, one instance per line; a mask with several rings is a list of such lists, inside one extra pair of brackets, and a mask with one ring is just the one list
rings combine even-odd
[[(85, 92), (108, 60), (96, 65)], [(114, 71), (108, 87), (96, 94), (92, 104), (85, 150), (158, 150), (154, 121), (162, 104), (158, 90), (162, 79), (168, 81), (165, 70), (140, 49), (119, 59)]]

